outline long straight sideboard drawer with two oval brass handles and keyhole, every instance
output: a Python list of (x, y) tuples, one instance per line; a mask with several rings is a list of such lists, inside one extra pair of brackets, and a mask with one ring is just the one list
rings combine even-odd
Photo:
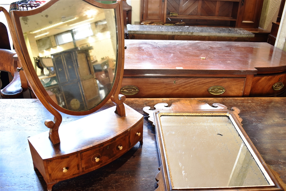
[[(242, 97), (245, 79), (126, 77), (122, 81), (121, 93), (127, 98)], [(214, 86), (223, 87), (225, 92), (219, 95), (209, 93), (208, 89)], [(131, 95), (132, 92), (136, 94)]]

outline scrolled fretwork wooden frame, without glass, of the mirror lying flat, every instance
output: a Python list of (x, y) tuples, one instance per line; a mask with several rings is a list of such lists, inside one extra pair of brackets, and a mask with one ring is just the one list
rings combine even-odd
[[(152, 123), (155, 127), (156, 132), (156, 141), (158, 147), (159, 161), (160, 167), (159, 172), (156, 175), (158, 188), (156, 191), (170, 191), (170, 190), (284, 190), (285, 183), (279, 177), (279, 174), (272, 170), (267, 164), (265, 164), (261, 155), (247, 136), (246, 132), (242, 127), (242, 119), (239, 117), (240, 110), (236, 107), (232, 107), (229, 110), (225, 105), (214, 103), (212, 107), (206, 103), (201, 103), (195, 100), (182, 100), (176, 103), (172, 103), (170, 107), (168, 107), (167, 103), (158, 103), (154, 106), (154, 110), (151, 110), (150, 107), (143, 108), (144, 113), (149, 115), (148, 121)], [(247, 146), (251, 155), (253, 155), (255, 161), (259, 164), (259, 168), (262, 172), (266, 172), (270, 177), (274, 185), (267, 186), (236, 186), (236, 187), (212, 187), (212, 188), (172, 188), (172, 177), (170, 176), (170, 167), (168, 166), (168, 156), (166, 154), (166, 148), (164, 143), (164, 138), (162, 135), (161, 124), (160, 124), (160, 116), (164, 115), (170, 116), (178, 116), (178, 115), (189, 115), (189, 116), (230, 116), (230, 119), (234, 126), (239, 129), (238, 133), (241, 136), (243, 142)], [(233, 120), (232, 120), (233, 119)], [(170, 157), (170, 156), (169, 156)], [(257, 161), (258, 160), (258, 161)], [(264, 174), (264, 173), (263, 173)], [(268, 178), (269, 178), (268, 177)], [(266, 177), (267, 179), (267, 177)]]

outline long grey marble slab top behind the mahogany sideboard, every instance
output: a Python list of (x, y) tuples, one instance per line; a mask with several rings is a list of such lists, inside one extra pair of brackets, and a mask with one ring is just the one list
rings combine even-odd
[(242, 28), (192, 27), (164, 25), (127, 25), (128, 34), (224, 36), (253, 38), (254, 34)]

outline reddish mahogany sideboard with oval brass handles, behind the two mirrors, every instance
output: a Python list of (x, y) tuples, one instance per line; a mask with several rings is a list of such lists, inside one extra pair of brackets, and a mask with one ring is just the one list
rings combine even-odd
[(126, 98), (264, 97), (286, 91), (286, 54), (267, 43), (125, 40), (125, 45)]

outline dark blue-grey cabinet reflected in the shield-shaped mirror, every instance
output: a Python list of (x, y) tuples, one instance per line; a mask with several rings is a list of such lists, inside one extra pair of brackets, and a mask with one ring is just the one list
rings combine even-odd
[(61, 92), (57, 100), (62, 107), (82, 111), (96, 106), (101, 101), (89, 49), (62, 51), (51, 54), (51, 59)]

